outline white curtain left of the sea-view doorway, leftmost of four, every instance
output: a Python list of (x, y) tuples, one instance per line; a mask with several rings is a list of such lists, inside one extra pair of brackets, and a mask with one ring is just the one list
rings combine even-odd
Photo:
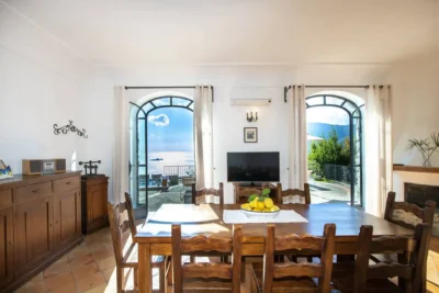
[(130, 102), (125, 97), (125, 87), (115, 89), (115, 120), (113, 147), (113, 202), (124, 202), (124, 193), (128, 191), (130, 160)]

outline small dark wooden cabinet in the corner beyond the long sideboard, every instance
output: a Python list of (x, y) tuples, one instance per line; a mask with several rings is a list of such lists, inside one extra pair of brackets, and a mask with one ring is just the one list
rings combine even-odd
[(82, 233), (90, 234), (109, 226), (109, 178), (104, 174), (82, 176), (81, 191)]

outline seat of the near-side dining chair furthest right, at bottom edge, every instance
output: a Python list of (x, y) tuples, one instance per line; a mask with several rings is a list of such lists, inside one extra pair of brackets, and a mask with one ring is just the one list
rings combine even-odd
[[(342, 293), (353, 292), (353, 278), (336, 278), (333, 280), (334, 286)], [(403, 293), (404, 290), (399, 289), (395, 283), (389, 279), (368, 280), (365, 283), (365, 293)]]

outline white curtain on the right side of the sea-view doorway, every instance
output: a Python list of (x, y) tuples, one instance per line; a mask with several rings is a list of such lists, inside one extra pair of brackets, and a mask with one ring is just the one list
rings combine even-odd
[(196, 188), (213, 188), (212, 87), (196, 86), (193, 99)]

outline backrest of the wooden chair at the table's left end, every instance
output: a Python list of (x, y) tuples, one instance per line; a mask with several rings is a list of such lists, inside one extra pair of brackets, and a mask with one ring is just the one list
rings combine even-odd
[[(124, 259), (124, 255), (130, 253), (135, 247), (132, 237), (130, 237), (132, 234), (131, 233), (132, 227), (130, 224), (128, 215), (126, 215), (127, 213), (126, 203), (120, 203), (113, 205), (109, 202), (108, 211), (109, 211), (110, 230), (113, 239), (114, 256), (116, 259), (116, 264), (121, 266)], [(131, 244), (126, 246), (127, 243)]]

